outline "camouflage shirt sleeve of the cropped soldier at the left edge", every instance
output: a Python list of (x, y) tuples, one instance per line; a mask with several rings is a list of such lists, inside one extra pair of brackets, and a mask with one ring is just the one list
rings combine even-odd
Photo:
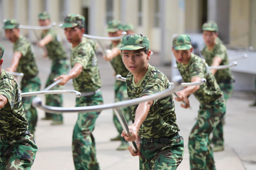
[(8, 100), (11, 108), (15, 102), (15, 88), (8, 82), (2, 82), (0, 85), (0, 95), (3, 95)]

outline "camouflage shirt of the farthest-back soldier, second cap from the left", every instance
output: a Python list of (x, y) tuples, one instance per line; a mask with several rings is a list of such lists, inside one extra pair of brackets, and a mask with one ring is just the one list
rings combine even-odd
[(43, 39), (47, 35), (50, 35), (52, 37), (52, 41), (45, 45), (49, 58), (53, 61), (67, 59), (67, 54), (61, 43), (61, 38), (57, 35), (56, 31), (52, 28), (48, 29), (47, 32), (43, 31), (41, 34), (41, 38)]

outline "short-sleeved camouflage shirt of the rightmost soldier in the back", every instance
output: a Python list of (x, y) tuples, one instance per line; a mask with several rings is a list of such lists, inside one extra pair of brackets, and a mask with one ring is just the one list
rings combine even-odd
[[(207, 49), (207, 46), (205, 46), (201, 53), (208, 65), (212, 65), (213, 58), (216, 56), (221, 57), (222, 59), (220, 65), (229, 64), (227, 48), (220, 42), (217, 42), (214, 48), (210, 51)], [(214, 76), (218, 83), (233, 79), (230, 68), (217, 70)]]

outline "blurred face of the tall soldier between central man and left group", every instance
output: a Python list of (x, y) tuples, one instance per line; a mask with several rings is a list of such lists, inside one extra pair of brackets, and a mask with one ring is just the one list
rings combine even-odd
[(72, 27), (72, 28), (65, 28), (65, 35), (67, 37), (67, 41), (70, 43), (76, 43), (78, 41), (81, 40), (81, 38), (83, 37), (84, 34), (84, 28), (78, 28), (76, 27)]

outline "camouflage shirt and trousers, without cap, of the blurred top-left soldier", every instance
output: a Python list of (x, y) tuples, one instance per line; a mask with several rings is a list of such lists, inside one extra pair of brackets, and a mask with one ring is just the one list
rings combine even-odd
[[(21, 80), (21, 91), (32, 92), (39, 91), (41, 82), (38, 75), (38, 67), (35, 63), (35, 54), (32, 45), (26, 38), (20, 35), (19, 39), (13, 45), (13, 51), (20, 52), (22, 57), (20, 58), (17, 72), (24, 73), (24, 77)], [(36, 109), (32, 106), (32, 100), (35, 96), (23, 97), (23, 107), (26, 113), (26, 118), (29, 122), (29, 131), (34, 134), (35, 126), (37, 123), (38, 115)]]

